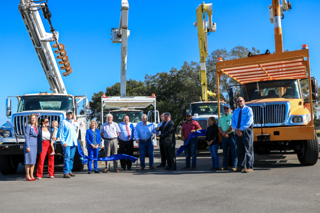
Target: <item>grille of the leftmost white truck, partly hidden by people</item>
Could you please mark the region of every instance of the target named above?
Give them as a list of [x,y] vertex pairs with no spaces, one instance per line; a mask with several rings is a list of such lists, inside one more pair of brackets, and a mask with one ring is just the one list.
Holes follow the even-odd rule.
[[[27,116],[16,116],[13,118],[13,129],[17,136],[24,135],[24,128],[27,126],[28,117],[29,116],[27,115]],[[47,117],[49,119],[49,125],[51,125],[52,121],[58,121],[58,123],[60,123],[59,115],[42,115],[38,118],[39,125],[40,125],[40,119],[42,117]]]

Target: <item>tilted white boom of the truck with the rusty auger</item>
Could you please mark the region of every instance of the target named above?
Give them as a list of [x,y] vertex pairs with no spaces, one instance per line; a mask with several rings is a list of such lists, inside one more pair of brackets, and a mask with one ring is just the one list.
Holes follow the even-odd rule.
[[44,74],[47,77],[50,90],[52,93],[67,94],[59,67],[49,43],[51,41],[58,41],[59,34],[56,32],[54,38],[52,33],[45,32],[38,12],[42,7],[44,7],[44,3],[35,4],[29,0],[20,0],[19,11],[43,67]]

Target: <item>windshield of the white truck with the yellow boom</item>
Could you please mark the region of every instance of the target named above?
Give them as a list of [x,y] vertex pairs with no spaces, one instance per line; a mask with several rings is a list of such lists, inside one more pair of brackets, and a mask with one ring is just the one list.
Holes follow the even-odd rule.
[[[220,115],[223,114],[223,105],[224,103],[220,103]],[[198,103],[191,104],[190,113],[192,116],[194,114],[198,115],[207,115],[207,114],[218,114],[218,103]]]

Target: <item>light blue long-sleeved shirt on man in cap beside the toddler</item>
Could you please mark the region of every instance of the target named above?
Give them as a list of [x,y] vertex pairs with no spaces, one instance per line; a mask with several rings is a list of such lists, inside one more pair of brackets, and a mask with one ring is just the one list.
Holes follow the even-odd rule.
[[61,141],[61,145],[65,143],[67,146],[77,146],[77,134],[76,134],[77,126],[76,123],[71,120],[69,121],[67,118],[63,119],[59,124],[59,138]]

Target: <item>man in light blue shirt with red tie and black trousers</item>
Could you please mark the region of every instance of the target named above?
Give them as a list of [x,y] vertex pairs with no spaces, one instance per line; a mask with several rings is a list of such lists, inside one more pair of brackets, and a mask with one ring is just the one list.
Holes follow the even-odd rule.
[[[123,122],[119,123],[119,154],[133,155],[133,124],[129,122],[129,116],[123,116]],[[132,161],[130,159],[120,160],[122,171],[125,167],[131,171]]]

